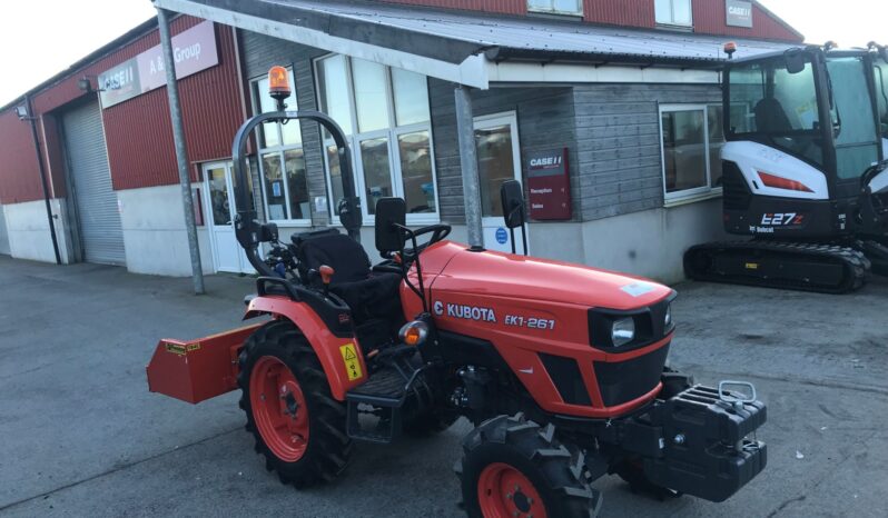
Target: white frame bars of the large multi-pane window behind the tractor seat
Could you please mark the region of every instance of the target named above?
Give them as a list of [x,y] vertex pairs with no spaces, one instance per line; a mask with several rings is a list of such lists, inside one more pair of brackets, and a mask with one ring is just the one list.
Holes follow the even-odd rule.
[[[352,157],[352,165],[353,165],[353,179],[355,183],[355,191],[361,200],[361,211],[364,219],[364,226],[373,226],[375,223],[375,216],[369,213],[368,208],[368,200],[366,196],[366,181],[364,178],[364,162],[363,157],[361,153],[361,142],[364,140],[369,140],[374,138],[385,137],[387,139],[388,146],[388,175],[389,180],[392,181],[392,196],[395,197],[404,197],[404,176],[401,169],[401,150],[397,146],[397,139],[399,136],[405,133],[415,133],[421,131],[428,132],[428,152],[431,155],[431,165],[432,165],[432,183],[435,187],[435,211],[434,212],[408,212],[407,213],[407,223],[412,226],[423,226],[423,225],[435,225],[441,222],[441,195],[438,189],[437,182],[437,167],[435,165],[435,139],[434,133],[432,130],[432,106],[431,99],[428,99],[428,94],[426,93],[426,99],[428,100],[428,120],[424,122],[414,122],[412,124],[405,126],[397,126],[397,113],[396,113],[396,102],[395,102],[395,92],[394,92],[394,84],[392,82],[392,67],[385,67],[385,90],[386,94],[388,96],[388,128],[377,129],[367,132],[361,132],[361,127],[358,126],[357,120],[357,99],[355,98],[355,89],[354,89],[354,77],[352,73],[352,57],[345,54],[338,54],[336,52],[328,52],[323,56],[318,56],[312,59],[312,70],[314,72],[314,83],[315,83],[315,99],[317,102],[317,110],[320,112],[325,112],[323,109],[324,103],[324,96],[325,92],[320,89],[320,74],[318,73],[318,67],[320,63],[328,58],[333,58],[336,56],[342,56],[345,58],[345,76],[346,76],[346,92],[348,96],[348,108],[349,108],[349,118],[352,123],[352,135],[345,136],[345,141],[348,145],[348,149]],[[414,72],[418,73],[418,72]],[[426,89],[428,88],[428,77],[426,78]],[[427,90],[426,90],[427,91]],[[326,185],[327,191],[327,208],[329,210],[329,221],[332,225],[342,226],[339,221],[339,217],[336,215],[336,199],[333,193],[333,177],[330,176],[329,171],[329,159],[327,155],[327,148],[330,146],[335,147],[335,142],[332,138],[327,137],[323,128],[318,128],[320,132],[320,142],[323,147],[323,160],[324,160],[324,182]]]

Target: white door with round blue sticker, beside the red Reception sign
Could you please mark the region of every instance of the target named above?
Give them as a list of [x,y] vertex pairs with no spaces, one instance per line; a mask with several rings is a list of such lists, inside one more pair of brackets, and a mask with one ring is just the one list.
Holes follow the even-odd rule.
[[[481,182],[481,225],[484,248],[512,251],[511,232],[503,223],[503,203],[500,186],[506,180],[521,181],[521,152],[519,148],[515,112],[475,118],[475,146],[477,173]],[[524,226],[526,231],[527,226]],[[515,229],[515,251],[522,253],[521,229]]]

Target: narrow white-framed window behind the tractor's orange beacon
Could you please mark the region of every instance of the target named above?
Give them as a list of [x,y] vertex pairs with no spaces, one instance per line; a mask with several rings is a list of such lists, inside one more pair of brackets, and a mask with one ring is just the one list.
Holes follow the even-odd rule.
[[[296,84],[293,70],[289,83]],[[251,83],[253,106],[258,113],[275,111],[275,100],[268,94],[268,79]],[[296,90],[285,101],[288,110],[298,110]],[[299,122],[266,122],[259,129],[259,175],[266,219],[269,221],[310,225],[308,183],[303,156]]]

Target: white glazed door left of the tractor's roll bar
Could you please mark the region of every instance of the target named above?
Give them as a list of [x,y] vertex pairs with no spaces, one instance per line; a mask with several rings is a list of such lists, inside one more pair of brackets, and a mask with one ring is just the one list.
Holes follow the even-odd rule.
[[214,162],[204,166],[204,183],[207,192],[205,206],[213,261],[216,271],[253,273],[255,270],[235,237],[234,220],[237,215],[231,163]]

